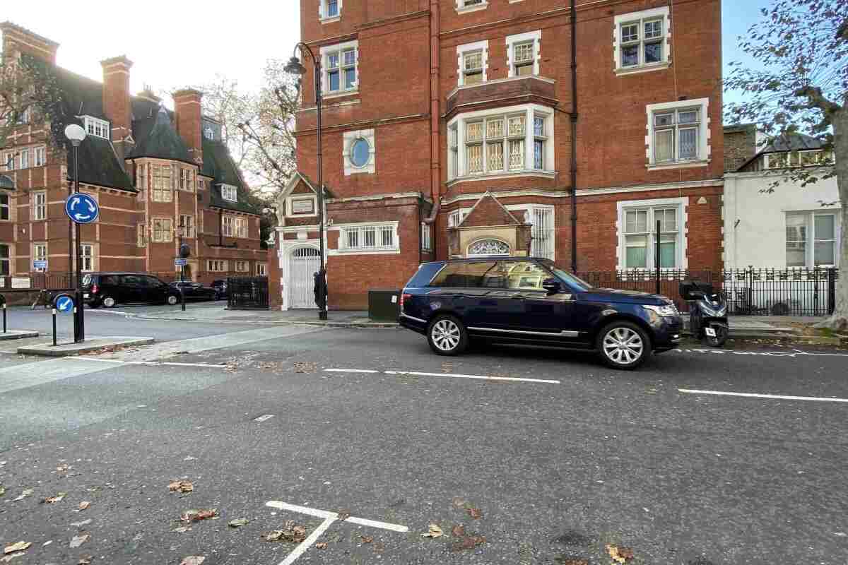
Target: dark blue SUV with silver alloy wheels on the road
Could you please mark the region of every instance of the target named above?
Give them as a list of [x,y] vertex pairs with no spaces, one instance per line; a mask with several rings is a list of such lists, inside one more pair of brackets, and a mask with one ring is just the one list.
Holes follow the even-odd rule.
[[683,330],[665,296],[593,288],[538,258],[423,263],[404,288],[399,323],[427,335],[438,355],[469,341],[555,346],[599,352],[622,369],[676,347]]

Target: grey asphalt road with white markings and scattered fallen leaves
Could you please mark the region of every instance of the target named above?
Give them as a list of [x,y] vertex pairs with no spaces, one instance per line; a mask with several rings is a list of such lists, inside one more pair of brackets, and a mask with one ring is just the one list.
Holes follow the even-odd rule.
[[[209,330],[226,335],[195,339]],[[110,360],[0,357],[0,546],[32,544],[13,563],[848,559],[848,352],[689,349],[620,373],[529,349],[437,357],[405,330],[174,331]],[[132,363],[155,358],[179,364]],[[220,519],[179,521],[203,508]],[[263,539],[287,520],[326,548]],[[421,537],[431,523],[444,535]]]

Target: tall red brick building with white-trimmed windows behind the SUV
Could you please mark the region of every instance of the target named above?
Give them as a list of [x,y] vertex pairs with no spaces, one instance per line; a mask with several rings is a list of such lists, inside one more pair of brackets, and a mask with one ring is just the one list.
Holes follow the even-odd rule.
[[[431,258],[652,270],[659,238],[663,269],[721,266],[721,3],[567,4],[301,0],[325,94],[330,307],[365,307]],[[306,66],[282,307],[310,306],[317,270]]]

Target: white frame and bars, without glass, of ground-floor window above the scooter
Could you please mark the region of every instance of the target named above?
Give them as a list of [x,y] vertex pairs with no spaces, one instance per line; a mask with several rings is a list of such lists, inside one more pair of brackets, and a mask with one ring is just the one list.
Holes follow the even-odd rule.
[[[687,227],[689,224],[689,212],[687,208],[689,207],[689,197],[679,197],[679,198],[655,198],[652,200],[626,200],[617,202],[618,208],[618,216],[616,220],[616,232],[618,237],[618,245],[616,248],[617,255],[617,264],[618,269],[622,271],[627,271],[628,273],[632,272],[653,272],[656,270],[654,265],[654,252],[656,246],[656,220],[653,220],[653,210],[656,209],[669,209],[675,208],[677,210],[677,234],[678,234],[678,246],[675,251],[674,258],[674,268],[663,268],[661,271],[678,271],[681,269],[689,268],[689,259],[686,255],[686,250],[688,247],[689,241],[689,228]],[[627,229],[627,213],[642,211],[642,210],[651,210],[648,214],[647,219],[647,227],[648,227],[648,250],[646,252],[647,258],[645,260],[644,269],[633,269],[628,268],[626,266],[627,263],[627,236],[631,235],[626,233]]]

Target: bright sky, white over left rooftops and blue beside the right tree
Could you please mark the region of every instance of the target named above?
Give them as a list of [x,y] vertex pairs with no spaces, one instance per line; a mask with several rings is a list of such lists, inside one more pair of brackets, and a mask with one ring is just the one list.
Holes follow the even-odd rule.
[[[759,19],[768,0],[723,0],[723,63],[742,58],[737,36]],[[153,91],[197,86],[225,75],[246,91],[259,89],[269,58],[289,58],[300,35],[299,0],[148,0],[132,4],[104,0],[4,2],[0,19],[59,42],[58,63],[101,80],[100,61],[126,55],[133,62],[130,89]],[[126,3],[124,4],[126,5]],[[82,7],[85,8],[82,8]],[[744,60],[744,58],[743,58]],[[733,93],[725,101],[736,101]],[[170,105],[170,99],[165,99]]]

